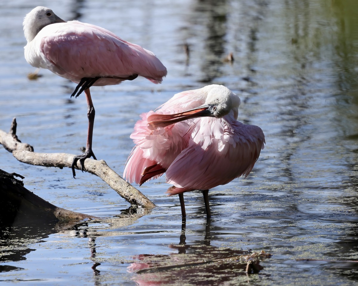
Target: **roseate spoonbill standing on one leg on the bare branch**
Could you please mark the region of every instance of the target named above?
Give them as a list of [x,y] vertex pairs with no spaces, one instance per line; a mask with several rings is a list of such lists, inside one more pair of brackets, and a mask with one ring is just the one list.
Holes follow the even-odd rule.
[[78,83],[71,97],[76,95],[77,98],[83,91],[86,94],[87,144],[84,154],[73,158],[75,177],[74,166],[78,160],[83,171],[86,158],[96,159],[92,151],[95,109],[89,88],[119,84],[138,75],[158,84],[165,77],[166,68],[151,51],[122,40],[101,27],[79,21],[66,22],[46,7],[34,8],[25,16],[23,26],[27,40],[26,61]]

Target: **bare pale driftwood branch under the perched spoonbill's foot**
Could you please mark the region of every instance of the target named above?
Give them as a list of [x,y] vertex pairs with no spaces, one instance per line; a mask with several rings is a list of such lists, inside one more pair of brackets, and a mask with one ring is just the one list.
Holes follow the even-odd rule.
[[[67,153],[36,153],[34,148],[21,141],[16,136],[16,119],[13,119],[10,132],[6,133],[0,129],[0,144],[6,150],[11,152],[18,161],[45,167],[68,167],[71,168],[72,160],[75,155]],[[84,163],[84,171],[94,174],[105,181],[113,190],[115,190],[122,198],[130,204],[142,206],[145,208],[153,208],[155,204],[151,202],[144,194],[127,183],[121,176],[114,172],[105,161],[86,159]],[[77,169],[81,169],[79,161]]]

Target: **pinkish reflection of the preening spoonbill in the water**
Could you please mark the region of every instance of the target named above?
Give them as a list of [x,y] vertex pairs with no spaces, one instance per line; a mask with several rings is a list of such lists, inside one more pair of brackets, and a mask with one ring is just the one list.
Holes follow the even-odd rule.
[[252,252],[211,246],[209,219],[205,238],[198,244],[185,242],[185,228],[183,218],[179,244],[169,245],[178,253],[133,257],[139,262],[131,263],[127,271],[136,273],[134,280],[138,285],[175,285],[180,281],[188,285],[222,285],[242,280],[242,275],[258,273],[263,269],[260,261],[271,256],[263,250]]

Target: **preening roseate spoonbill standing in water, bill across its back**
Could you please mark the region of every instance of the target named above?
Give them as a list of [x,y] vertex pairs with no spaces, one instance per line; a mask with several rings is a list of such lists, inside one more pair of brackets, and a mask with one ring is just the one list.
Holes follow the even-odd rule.
[[131,134],[124,177],[143,184],[166,173],[169,196],[202,190],[210,217],[208,190],[251,172],[264,147],[260,127],[237,121],[240,98],[223,85],[177,93],[156,110],[141,114]]

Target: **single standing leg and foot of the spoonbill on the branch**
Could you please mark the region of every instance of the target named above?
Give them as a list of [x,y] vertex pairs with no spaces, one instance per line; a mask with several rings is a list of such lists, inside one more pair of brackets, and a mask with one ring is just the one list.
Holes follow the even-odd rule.
[[84,170],[84,160],[85,159],[93,157],[93,159],[97,160],[95,154],[93,154],[93,151],[92,151],[92,135],[93,135],[93,124],[95,123],[95,108],[93,107],[91,93],[89,93],[89,88],[85,89],[84,93],[86,94],[86,100],[87,100],[87,106],[88,106],[87,144],[86,144],[86,151],[84,151],[84,153],[82,155],[78,155],[73,158],[72,166],[71,166],[73,178],[76,176],[74,167],[77,165],[78,160],[81,163],[82,172]]

